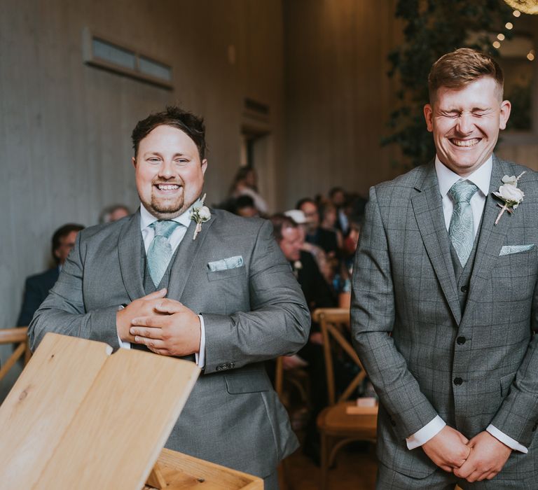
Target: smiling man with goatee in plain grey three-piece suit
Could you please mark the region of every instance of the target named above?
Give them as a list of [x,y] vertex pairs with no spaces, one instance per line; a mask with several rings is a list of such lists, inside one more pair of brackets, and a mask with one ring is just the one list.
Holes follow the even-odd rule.
[[301,288],[270,222],[202,207],[200,118],[171,107],[132,139],[142,205],[78,235],[29,327],[32,349],[53,331],[195,360],[203,374],[166,446],[275,488],[277,463],[298,444],[263,361],[308,339]]

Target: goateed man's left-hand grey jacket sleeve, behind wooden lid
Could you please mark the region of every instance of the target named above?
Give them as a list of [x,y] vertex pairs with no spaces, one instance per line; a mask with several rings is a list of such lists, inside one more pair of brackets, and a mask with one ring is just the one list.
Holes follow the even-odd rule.
[[[55,332],[83,339],[106,342],[118,349],[116,334],[117,307],[94,309],[87,312],[83,301],[83,273],[85,245],[81,233],[74,249],[62,267],[60,277],[46,300],[36,311],[28,328],[30,349],[34,351],[47,332]],[[108,325],[109,328],[102,328]]]

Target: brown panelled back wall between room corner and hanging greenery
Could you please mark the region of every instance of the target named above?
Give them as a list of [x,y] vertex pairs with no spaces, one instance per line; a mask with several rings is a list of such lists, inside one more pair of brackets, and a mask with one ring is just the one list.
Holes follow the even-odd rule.
[[286,33],[288,206],[332,186],[366,193],[392,178],[381,148],[394,100],[387,54],[399,34],[394,1],[291,0]]

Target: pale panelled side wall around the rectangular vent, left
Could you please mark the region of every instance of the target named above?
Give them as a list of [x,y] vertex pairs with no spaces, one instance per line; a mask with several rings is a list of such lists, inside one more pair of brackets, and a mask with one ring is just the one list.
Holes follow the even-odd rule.
[[[85,27],[171,64],[173,90],[83,64]],[[3,0],[0,33],[0,328],[25,276],[47,267],[55,228],[137,206],[130,132],[150,111],[179,102],[205,117],[209,203],[240,161],[244,97],[270,106],[264,178],[283,165],[280,1]]]

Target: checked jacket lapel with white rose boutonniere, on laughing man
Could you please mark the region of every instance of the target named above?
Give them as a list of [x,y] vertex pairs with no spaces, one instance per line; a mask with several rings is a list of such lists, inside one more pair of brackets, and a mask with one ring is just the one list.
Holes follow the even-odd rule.
[[464,312],[464,319],[471,314],[474,304],[481,297],[483,287],[488,282],[491,269],[499,258],[501,247],[505,242],[506,233],[511,226],[511,218],[508,213],[504,213],[497,225],[494,225],[500,208],[497,205],[499,200],[492,196],[492,192],[499,189],[504,175],[512,175],[513,169],[502,160],[493,155],[493,167],[491,171],[490,192],[486,197],[480,237],[476,248],[476,258],[474,262],[471,281],[469,283],[469,297]]

